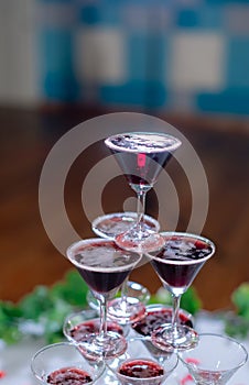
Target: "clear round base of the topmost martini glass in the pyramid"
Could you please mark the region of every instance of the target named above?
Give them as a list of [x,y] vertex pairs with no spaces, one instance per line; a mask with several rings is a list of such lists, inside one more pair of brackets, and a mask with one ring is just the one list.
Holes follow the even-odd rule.
[[121,249],[133,251],[136,253],[149,253],[161,249],[165,241],[160,233],[148,231],[144,227],[134,226],[131,230],[119,234],[115,242]]

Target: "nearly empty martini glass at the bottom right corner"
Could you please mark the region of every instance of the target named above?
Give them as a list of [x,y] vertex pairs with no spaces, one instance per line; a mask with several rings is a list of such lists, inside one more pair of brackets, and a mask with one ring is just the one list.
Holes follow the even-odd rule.
[[247,362],[243,345],[227,336],[203,333],[196,348],[178,354],[197,385],[225,385]]

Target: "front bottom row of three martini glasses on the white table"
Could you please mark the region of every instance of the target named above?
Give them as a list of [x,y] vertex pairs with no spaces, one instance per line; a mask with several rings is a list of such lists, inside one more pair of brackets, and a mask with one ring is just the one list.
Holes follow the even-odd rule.
[[[167,383],[166,378],[181,361],[196,384],[225,385],[248,356],[241,343],[221,334],[201,333],[194,349],[178,353],[160,351],[156,356],[147,349],[144,341],[145,338],[138,337],[128,339],[126,353],[106,362],[88,360],[82,354],[80,345],[55,343],[33,356],[31,369],[42,384],[83,385],[99,380],[101,384],[160,385]],[[113,374],[112,378],[108,372]]]

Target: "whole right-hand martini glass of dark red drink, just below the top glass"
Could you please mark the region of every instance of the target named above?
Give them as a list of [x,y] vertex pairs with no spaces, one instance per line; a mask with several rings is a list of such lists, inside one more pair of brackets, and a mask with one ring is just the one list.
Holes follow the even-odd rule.
[[204,237],[185,232],[162,232],[164,246],[152,252],[151,264],[163,286],[173,297],[172,322],[156,328],[151,336],[155,346],[165,351],[182,351],[195,346],[197,332],[187,324],[181,324],[178,310],[181,296],[205,262],[215,253],[215,245]]

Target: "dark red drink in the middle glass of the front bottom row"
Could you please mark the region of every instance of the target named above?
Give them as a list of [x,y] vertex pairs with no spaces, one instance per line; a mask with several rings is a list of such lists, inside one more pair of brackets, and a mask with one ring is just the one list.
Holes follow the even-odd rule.
[[119,367],[119,373],[133,378],[151,378],[164,374],[163,367],[153,361],[132,360]]

